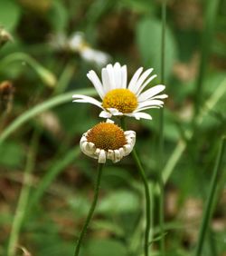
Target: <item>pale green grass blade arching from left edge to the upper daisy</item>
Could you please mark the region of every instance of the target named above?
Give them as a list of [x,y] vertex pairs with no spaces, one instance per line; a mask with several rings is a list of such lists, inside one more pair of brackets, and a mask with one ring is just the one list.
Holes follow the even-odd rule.
[[[14,133],[16,129],[22,126],[24,123],[28,122],[31,118],[42,113],[48,109],[51,109],[62,103],[72,102],[72,94],[86,94],[86,95],[95,95],[96,91],[94,89],[82,89],[77,91],[71,91],[67,94],[61,94],[47,100],[43,103],[35,105],[32,109],[26,111],[25,113],[18,116],[13,123],[10,123],[8,127],[0,135],[0,145],[5,141],[5,139]],[[72,106],[71,106],[72,107]]]

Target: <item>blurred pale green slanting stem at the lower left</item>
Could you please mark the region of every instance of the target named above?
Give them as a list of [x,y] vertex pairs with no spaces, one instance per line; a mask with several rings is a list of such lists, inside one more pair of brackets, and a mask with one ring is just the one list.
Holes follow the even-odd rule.
[[14,222],[12,226],[12,231],[10,233],[8,248],[7,248],[7,256],[14,256],[15,249],[19,238],[19,233],[24,221],[24,214],[27,207],[27,202],[30,193],[30,184],[31,184],[31,172],[33,172],[33,167],[35,163],[35,155],[37,152],[37,142],[39,133],[34,132],[32,148],[28,153],[26,167],[24,170],[24,183],[22,187],[22,191],[19,196],[19,201],[17,204],[17,208],[14,215]]

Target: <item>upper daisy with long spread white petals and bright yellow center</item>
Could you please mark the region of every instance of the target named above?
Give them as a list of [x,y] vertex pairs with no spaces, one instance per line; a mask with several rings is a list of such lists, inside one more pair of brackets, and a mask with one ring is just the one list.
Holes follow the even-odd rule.
[[73,102],[92,103],[99,106],[102,109],[99,116],[104,118],[110,118],[112,115],[127,115],[136,119],[152,119],[150,114],[143,111],[162,107],[164,102],[161,100],[167,98],[166,94],[159,94],[165,90],[165,85],[158,84],[145,90],[156,77],[155,74],[150,76],[152,71],[153,68],[150,68],[142,74],[143,68],[140,67],[127,85],[126,65],[121,66],[116,63],[102,68],[102,83],[98,75],[91,70],[87,76],[97,90],[101,102],[80,94],[72,96],[75,99]]

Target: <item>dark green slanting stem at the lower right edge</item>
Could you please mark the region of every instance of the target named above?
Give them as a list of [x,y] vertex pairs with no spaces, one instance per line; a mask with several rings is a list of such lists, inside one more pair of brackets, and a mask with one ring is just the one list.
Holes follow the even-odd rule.
[[225,151],[225,141],[226,141],[226,137],[222,138],[221,148],[218,153],[215,168],[212,173],[212,182],[211,182],[210,192],[209,192],[209,196],[207,199],[205,211],[203,212],[202,225],[201,225],[201,229],[200,229],[200,233],[199,233],[199,240],[198,240],[196,251],[194,253],[195,256],[202,255],[202,247],[203,247],[203,242],[205,239],[205,234],[206,234],[206,231],[209,226],[209,222],[212,217],[214,196],[215,196],[215,192],[216,192],[217,185],[218,185],[218,178],[219,178],[220,172],[221,172],[221,162],[223,159],[223,153]]

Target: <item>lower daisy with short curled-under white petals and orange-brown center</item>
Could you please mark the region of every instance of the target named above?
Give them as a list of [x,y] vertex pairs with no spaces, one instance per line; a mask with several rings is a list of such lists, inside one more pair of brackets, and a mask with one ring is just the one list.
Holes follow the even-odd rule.
[[111,120],[106,123],[98,123],[80,139],[80,149],[89,157],[98,159],[98,162],[120,161],[131,153],[136,142],[134,131],[124,132]]

